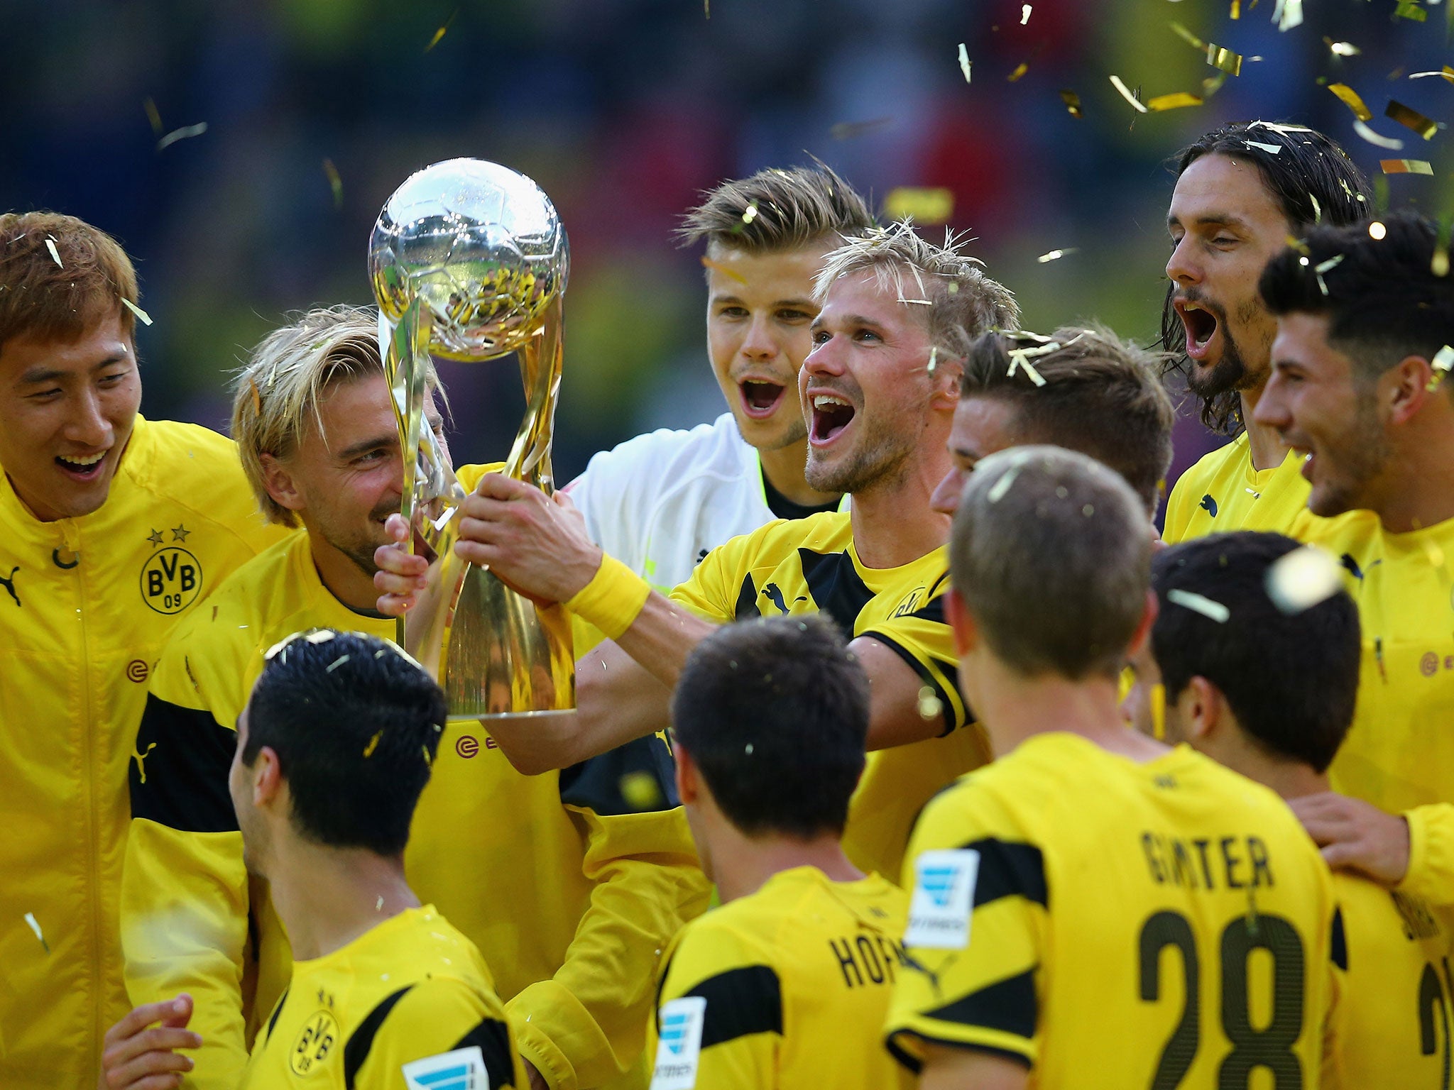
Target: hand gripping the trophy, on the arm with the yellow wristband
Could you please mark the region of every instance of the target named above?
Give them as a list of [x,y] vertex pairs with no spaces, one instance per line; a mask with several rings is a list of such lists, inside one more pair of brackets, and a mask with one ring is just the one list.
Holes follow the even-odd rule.
[[537,602],[567,602],[601,568],[601,548],[561,493],[489,474],[459,507],[455,552]]

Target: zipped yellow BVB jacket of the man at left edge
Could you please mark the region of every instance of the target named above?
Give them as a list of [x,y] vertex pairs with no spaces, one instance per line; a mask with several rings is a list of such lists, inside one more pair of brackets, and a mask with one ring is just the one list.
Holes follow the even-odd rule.
[[39,522],[0,474],[6,1090],[96,1086],[126,1010],[116,911],[147,677],[173,628],[284,533],[233,442],[193,424],[138,416],[106,503],[79,519]]

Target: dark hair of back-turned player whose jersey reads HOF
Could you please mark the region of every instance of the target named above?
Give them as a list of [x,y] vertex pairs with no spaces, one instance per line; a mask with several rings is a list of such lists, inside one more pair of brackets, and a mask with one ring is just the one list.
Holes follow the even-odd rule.
[[864,770],[868,677],[824,616],[743,621],[688,657],[672,730],[747,836],[840,836]]

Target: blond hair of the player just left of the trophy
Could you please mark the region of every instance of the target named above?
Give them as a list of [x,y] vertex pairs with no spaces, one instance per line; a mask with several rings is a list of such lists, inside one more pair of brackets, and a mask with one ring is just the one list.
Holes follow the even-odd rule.
[[[438,389],[433,365],[426,382]],[[297,526],[298,516],[268,493],[263,455],[297,452],[330,385],[382,374],[378,314],[364,307],[320,307],[273,330],[233,376],[233,439],[243,472],[269,522]]]

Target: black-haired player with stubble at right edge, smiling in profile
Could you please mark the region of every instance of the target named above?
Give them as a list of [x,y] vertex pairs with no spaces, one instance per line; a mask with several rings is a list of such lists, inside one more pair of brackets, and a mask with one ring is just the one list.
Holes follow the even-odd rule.
[[1256,423],[1296,452],[1313,514],[1377,516],[1313,538],[1349,573],[1362,667],[1332,764],[1345,795],[1297,799],[1297,812],[1333,866],[1451,904],[1454,282],[1432,270],[1437,235],[1412,215],[1317,228],[1268,265],[1278,334]]

